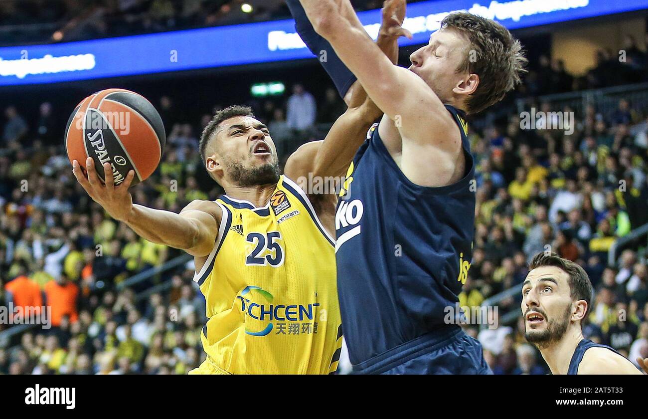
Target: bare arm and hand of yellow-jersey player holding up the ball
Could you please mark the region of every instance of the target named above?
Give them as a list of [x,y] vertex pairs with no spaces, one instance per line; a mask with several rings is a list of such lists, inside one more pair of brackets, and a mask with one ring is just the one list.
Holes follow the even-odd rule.
[[126,180],[115,186],[110,165],[104,165],[106,184],[102,184],[95,171],[94,162],[87,158],[87,178],[79,163],[73,162],[76,180],[95,202],[117,221],[126,223],[140,237],[153,243],[185,250],[192,256],[208,256],[211,252],[218,223],[222,217],[221,209],[213,202],[191,202],[179,214],[161,209],[147,208],[133,204],[128,192],[134,172],[130,171]]

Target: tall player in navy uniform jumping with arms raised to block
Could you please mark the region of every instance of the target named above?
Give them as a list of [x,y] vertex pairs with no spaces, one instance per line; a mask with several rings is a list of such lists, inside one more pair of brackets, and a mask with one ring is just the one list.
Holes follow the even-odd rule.
[[[332,47],[323,47],[327,60],[344,64],[323,62],[340,93],[353,73],[384,112],[347,171],[336,211],[338,295],[354,372],[489,374],[480,344],[445,318],[472,257],[466,117],[520,82],[520,43],[492,20],[450,14],[406,69],[381,56],[349,0],[300,3]],[[300,28],[317,53],[324,43],[297,21]]]

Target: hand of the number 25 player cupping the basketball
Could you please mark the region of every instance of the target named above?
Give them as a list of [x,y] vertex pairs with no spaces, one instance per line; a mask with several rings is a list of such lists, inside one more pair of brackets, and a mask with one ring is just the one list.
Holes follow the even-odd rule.
[[133,198],[130,192],[128,192],[128,187],[130,187],[133,178],[135,178],[135,171],[129,171],[124,182],[118,186],[115,186],[110,163],[104,163],[105,184],[102,184],[99,179],[95,170],[95,162],[92,158],[86,159],[86,171],[87,177],[82,172],[79,162],[76,160],[72,162],[72,172],[75,174],[76,180],[86,189],[87,195],[90,195],[97,204],[106,209],[106,212],[113,219],[126,221],[133,208]]

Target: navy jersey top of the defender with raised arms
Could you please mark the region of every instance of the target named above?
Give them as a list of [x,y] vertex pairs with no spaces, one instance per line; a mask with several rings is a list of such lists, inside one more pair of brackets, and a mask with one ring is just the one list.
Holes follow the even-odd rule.
[[354,365],[427,333],[458,328],[444,318],[446,307],[458,306],[470,268],[474,163],[465,115],[446,108],[466,158],[459,182],[410,182],[377,126],[349,167],[335,218],[336,259],[342,328]]

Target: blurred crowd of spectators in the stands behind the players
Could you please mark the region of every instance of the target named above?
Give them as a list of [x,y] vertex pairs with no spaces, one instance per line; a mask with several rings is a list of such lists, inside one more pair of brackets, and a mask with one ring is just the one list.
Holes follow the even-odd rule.
[[[615,67],[618,77],[608,77],[614,61],[608,57],[587,73],[586,84],[541,58],[513,96],[533,102],[540,91],[639,81],[629,75],[635,65],[645,68],[645,48],[628,49],[627,56]],[[316,96],[291,87],[283,99],[248,101],[270,126],[283,161],[300,143],[322,138],[344,110],[333,88]],[[191,200],[215,199],[222,189],[203,170],[198,137],[221,106],[188,118],[173,97],[151,99],[165,122],[167,147],[156,173],[133,187],[133,201],[178,212]],[[542,112],[571,112],[533,104]],[[0,374],[185,374],[197,366],[204,358],[205,307],[192,261],[126,285],[182,252],[140,239],[92,202],[71,173],[49,102],[3,111],[0,307],[50,306],[52,327],[7,336],[1,332],[19,326],[0,322]],[[511,108],[503,123],[470,132],[476,235],[460,304],[478,307],[521,284],[530,257],[549,248],[581,264],[594,285],[585,336],[631,360],[648,357],[645,238],[608,263],[612,243],[648,223],[648,97],[621,97],[606,112],[589,106],[561,129],[525,129],[521,118]],[[520,302],[521,293],[498,302],[500,317],[519,311]],[[496,374],[548,372],[524,339],[524,322],[466,329],[480,339]]]

